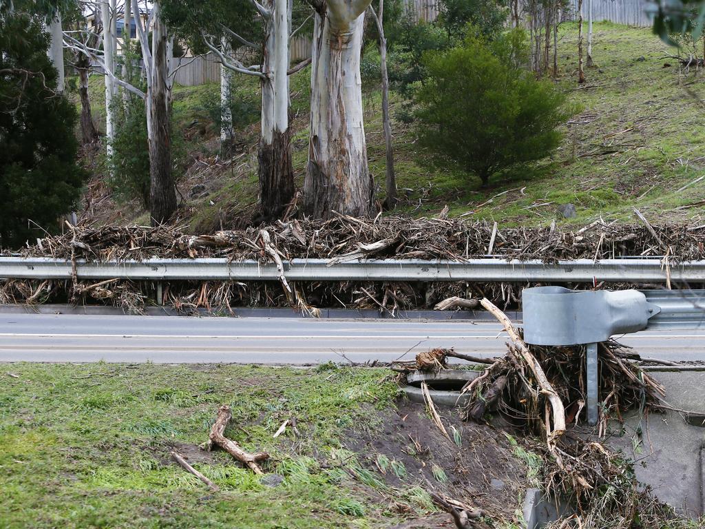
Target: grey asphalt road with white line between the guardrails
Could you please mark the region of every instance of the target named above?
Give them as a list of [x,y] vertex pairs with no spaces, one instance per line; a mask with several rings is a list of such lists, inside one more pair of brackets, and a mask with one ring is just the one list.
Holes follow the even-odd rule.
[[[494,322],[0,315],[0,362],[389,361],[433,347],[495,356],[505,341]],[[705,331],[644,331],[620,341],[652,358],[705,360]]]

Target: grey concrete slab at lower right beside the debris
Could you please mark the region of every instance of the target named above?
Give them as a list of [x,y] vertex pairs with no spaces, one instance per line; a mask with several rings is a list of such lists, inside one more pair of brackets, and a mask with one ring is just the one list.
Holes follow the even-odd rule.
[[[666,388],[674,408],[705,412],[704,372],[651,372]],[[618,428],[619,425],[614,425]],[[643,432],[643,444],[636,444]],[[680,413],[651,413],[648,418],[625,416],[623,434],[608,439],[635,463],[637,479],[651,486],[661,501],[686,516],[705,513],[701,452],[705,428],[687,423]]]

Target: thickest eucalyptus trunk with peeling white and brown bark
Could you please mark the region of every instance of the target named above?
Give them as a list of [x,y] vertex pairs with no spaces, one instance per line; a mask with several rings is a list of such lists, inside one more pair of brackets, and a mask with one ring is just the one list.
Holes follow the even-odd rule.
[[372,211],[372,178],[362,123],[360,49],[370,0],[316,2],[311,70],[309,161],[304,207],[314,217],[333,210]]

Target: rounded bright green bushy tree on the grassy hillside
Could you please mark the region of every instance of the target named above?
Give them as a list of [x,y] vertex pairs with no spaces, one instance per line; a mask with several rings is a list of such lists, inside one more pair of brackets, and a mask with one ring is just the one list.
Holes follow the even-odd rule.
[[437,159],[457,162],[486,186],[493,174],[551,154],[570,112],[561,92],[523,67],[521,30],[493,42],[468,33],[462,46],[424,55],[428,78],[416,95],[416,117]]

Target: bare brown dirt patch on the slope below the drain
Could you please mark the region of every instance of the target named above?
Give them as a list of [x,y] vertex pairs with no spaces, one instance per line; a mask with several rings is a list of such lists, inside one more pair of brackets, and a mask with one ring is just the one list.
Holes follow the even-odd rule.
[[[448,408],[438,411],[453,440],[434,426],[424,406],[400,399],[396,410],[381,412],[381,431],[351,434],[348,449],[357,452],[368,468],[381,472],[388,485],[417,483],[478,506],[491,516],[512,518],[517,498],[527,487],[526,468],[513,455],[503,429],[462,422],[458,412]],[[403,463],[405,472],[395,473],[393,468],[383,471],[380,456],[383,461]]]

